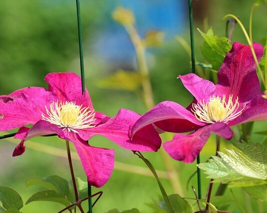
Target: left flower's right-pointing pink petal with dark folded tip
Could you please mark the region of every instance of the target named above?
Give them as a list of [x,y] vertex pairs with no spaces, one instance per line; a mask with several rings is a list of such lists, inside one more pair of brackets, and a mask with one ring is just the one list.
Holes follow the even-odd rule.
[[88,140],[94,135],[102,135],[119,146],[133,151],[157,151],[161,139],[152,125],[140,130],[132,140],[130,139],[129,130],[139,117],[140,115],[135,112],[120,109],[118,114],[106,123],[78,130],[78,134],[83,140]]

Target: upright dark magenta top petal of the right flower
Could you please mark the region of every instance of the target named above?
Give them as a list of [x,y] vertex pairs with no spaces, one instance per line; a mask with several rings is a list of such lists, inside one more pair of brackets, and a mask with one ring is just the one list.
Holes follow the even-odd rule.
[[[253,43],[253,48],[259,61],[263,55],[263,47]],[[260,92],[260,85],[256,74],[256,64],[250,47],[234,42],[232,49],[226,54],[218,71],[216,94],[238,96],[239,103],[247,103]]]

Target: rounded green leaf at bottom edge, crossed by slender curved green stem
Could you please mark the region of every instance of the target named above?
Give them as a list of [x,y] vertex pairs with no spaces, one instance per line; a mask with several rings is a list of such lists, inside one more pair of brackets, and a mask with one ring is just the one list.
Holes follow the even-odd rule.
[[[192,206],[186,200],[181,198],[179,195],[177,194],[170,195],[168,196],[168,199],[176,213],[193,213]],[[158,206],[161,209],[166,210],[167,213],[169,213],[169,210],[164,201],[160,202]]]

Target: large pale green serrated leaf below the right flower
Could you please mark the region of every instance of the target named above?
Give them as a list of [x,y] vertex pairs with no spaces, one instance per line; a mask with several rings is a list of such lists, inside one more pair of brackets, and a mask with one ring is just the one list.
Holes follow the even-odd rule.
[[230,187],[248,187],[267,183],[267,142],[233,143],[220,157],[212,156],[207,163],[199,164],[207,178],[213,182],[228,183]]

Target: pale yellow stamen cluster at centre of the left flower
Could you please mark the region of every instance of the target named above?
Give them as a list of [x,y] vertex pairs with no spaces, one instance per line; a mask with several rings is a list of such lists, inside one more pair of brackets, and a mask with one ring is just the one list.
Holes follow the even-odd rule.
[[64,103],[52,102],[49,109],[46,108],[46,115],[42,114],[42,120],[55,124],[63,130],[67,129],[68,132],[77,131],[75,129],[86,129],[94,127],[93,122],[94,110],[88,110],[89,107],[76,105],[75,102],[66,101]]

